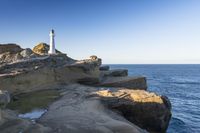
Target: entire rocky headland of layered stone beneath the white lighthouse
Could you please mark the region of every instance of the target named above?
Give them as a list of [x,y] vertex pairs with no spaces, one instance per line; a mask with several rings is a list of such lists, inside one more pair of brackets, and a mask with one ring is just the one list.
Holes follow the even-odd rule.
[[[1,132],[160,133],[167,130],[170,101],[148,92],[145,77],[128,77],[127,70],[101,67],[97,56],[74,60],[60,52],[48,55],[48,45],[39,44],[33,51],[18,45],[1,47],[4,49],[0,54],[9,56],[0,56],[0,104],[7,105],[10,96],[11,105],[16,102],[15,107],[22,104],[26,107],[41,96],[48,99],[50,94],[37,95],[35,100],[24,100],[24,103],[18,102],[22,94],[38,94],[43,90],[54,90],[60,97],[46,105],[48,111],[34,123],[19,118],[19,108],[10,108],[13,112],[8,109],[11,105],[1,106]],[[16,55],[20,58],[13,59]]]

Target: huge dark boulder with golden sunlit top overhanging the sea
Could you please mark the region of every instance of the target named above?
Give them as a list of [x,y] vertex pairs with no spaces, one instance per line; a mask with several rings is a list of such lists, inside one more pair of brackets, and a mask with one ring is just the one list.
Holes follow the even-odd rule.
[[167,97],[144,90],[102,90],[96,92],[105,106],[120,113],[130,122],[154,133],[164,133],[171,119]]

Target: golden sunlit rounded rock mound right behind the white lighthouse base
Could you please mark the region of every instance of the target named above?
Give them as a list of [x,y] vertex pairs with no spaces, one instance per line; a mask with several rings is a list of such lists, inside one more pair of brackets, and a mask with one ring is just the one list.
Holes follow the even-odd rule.
[[[49,45],[46,43],[39,43],[33,48],[33,52],[39,55],[46,55],[49,51]],[[56,50],[56,53],[61,53],[60,51]]]

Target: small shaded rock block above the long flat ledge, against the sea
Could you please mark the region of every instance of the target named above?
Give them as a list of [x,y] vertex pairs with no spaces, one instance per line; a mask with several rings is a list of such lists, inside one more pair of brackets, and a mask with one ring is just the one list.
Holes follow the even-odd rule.
[[101,75],[102,77],[123,77],[123,76],[128,76],[128,70],[115,69],[115,70],[109,70],[109,71],[102,71]]

